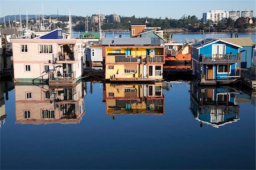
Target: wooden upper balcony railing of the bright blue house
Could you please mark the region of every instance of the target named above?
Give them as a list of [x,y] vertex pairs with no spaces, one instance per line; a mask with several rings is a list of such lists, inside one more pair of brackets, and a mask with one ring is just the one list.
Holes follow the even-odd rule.
[[241,54],[226,54],[226,55],[201,55],[202,62],[234,62],[241,61]]

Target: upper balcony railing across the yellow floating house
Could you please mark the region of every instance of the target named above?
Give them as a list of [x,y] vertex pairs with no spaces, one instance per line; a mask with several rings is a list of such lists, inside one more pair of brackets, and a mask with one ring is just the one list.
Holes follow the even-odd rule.
[[107,56],[106,63],[164,63],[164,56]]

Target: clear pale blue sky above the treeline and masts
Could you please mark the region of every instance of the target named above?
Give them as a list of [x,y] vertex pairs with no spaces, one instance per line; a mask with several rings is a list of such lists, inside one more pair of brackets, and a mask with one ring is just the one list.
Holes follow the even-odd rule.
[[41,14],[42,3],[44,5],[44,14],[59,14],[68,15],[68,9],[71,9],[71,15],[85,16],[86,9],[88,15],[97,14],[100,9],[102,14],[117,13],[121,16],[150,17],[150,18],[173,18],[180,19],[184,14],[196,15],[201,19],[203,13],[209,10],[225,10],[231,11],[237,9],[244,11],[245,9],[253,10],[255,16],[255,0],[200,0],[200,1],[0,1],[0,17],[5,15],[19,14],[19,9],[22,14]]

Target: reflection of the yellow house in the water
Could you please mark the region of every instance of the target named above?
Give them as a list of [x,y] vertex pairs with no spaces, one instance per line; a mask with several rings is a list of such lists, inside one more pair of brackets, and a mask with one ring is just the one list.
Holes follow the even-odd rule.
[[164,114],[163,83],[156,84],[105,84],[103,101],[106,114]]

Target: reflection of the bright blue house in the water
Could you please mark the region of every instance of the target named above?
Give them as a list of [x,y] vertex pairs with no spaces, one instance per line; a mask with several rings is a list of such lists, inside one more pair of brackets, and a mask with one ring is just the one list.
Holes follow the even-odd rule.
[[230,86],[202,87],[191,82],[191,111],[200,126],[203,123],[213,127],[237,122],[240,91]]

